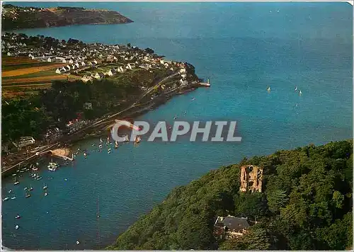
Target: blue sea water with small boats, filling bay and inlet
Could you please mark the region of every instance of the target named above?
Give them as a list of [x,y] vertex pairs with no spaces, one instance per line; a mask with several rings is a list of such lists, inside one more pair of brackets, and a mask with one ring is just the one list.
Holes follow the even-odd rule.
[[[123,144],[89,149],[72,166],[2,181],[2,241],[9,248],[103,248],[169,191],[244,156],[353,137],[352,11],[346,3],[17,2],[120,11],[134,23],[21,30],[28,35],[153,48],[190,62],[210,88],[173,98],[139,119],[237,120],[241,143]],[[266,88],[271,91],[267,93]],[[299,96],[294,90],[302,91]],[[192,101],[192,98],[195,98]],[[182,115],[183,111],[186,115]],[[143,139],[144,140],[144,139]],[[53,179],[48,179],[50,176]],[[64,179],[67,178],[67,181]],[[47,183],[48,195],[42,195]],[[34,187],[25,198],[23,187]],[[100,217],[97,218],[97,212]],[[15,219],[21,214],[21,219]],[[15,229],[16,224],[20,226]],[[80,241],[76,245],[76,240]]]

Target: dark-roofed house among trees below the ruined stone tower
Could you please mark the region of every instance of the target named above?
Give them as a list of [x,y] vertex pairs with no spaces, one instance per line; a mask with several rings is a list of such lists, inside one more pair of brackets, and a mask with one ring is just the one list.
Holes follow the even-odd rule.
[[251,222],[247,218],[218,216],[214,224],[214,235],[220,239],[229,239],[242,236],[251,227]]

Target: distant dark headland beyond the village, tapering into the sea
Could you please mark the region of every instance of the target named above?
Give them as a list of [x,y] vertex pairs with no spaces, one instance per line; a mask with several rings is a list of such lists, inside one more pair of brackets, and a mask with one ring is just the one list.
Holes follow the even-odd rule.
[[117,11],[76,7],[18,7],[4,4],[1,22],[3,30],[16,30],[95,23],[131,23],[132,21]]

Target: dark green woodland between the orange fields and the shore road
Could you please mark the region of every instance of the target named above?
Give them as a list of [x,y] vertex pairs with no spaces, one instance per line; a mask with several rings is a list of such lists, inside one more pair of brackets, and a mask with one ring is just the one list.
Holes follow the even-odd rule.
[[[41,137],[48,127],[64,129],[69,120],[82,113],[83,118],[93,119],[124,108],[142,93],[141,86],[149,88],[169,74],[166,69],[149,72],[139,69],[128,72],[120,79],[83,81],[53,81],[52,87],[28,97],[11,100],[2,98],[3,143],[19,137]],[[91,103],[92,110],[85,110],[84,103]]]

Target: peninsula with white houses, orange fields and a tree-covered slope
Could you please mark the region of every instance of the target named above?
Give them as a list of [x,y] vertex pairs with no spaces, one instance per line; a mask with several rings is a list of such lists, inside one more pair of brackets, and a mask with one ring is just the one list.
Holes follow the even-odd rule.
[[192,64],[166,60],[149,47],[16,33],[1,39],[1,175],[38,151],[106,135],[117,118],[205,86]]

